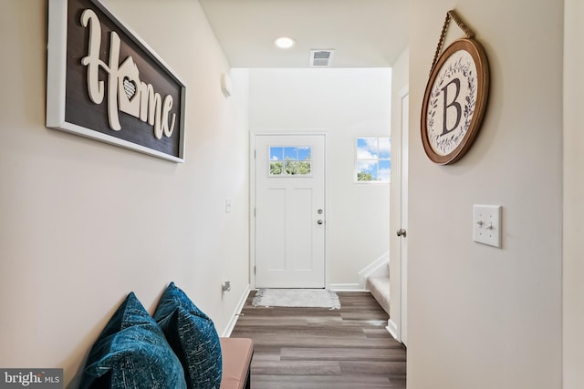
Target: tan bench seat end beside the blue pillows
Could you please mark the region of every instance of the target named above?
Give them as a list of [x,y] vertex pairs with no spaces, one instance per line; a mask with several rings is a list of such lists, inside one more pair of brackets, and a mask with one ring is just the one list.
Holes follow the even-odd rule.
[[223,359],[221,389],[250,389],[254,342],[249,338],[219,338]]

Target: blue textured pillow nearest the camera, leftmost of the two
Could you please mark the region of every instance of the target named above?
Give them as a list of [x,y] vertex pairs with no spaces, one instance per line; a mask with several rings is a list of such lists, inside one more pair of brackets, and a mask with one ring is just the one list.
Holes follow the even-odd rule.
[[79,388],[186,388],[161,328],[130,292],[89,352]]

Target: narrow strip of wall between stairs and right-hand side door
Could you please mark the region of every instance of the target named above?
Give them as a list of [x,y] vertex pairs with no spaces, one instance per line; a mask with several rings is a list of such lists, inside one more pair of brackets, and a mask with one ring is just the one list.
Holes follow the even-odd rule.
[[[409,58],[408,48],[403,50],[401,55],[391,67],[391,141],[393,144],[393,163],[391,170],[391,180],[395,185],[390,190],[390,317],[391,325],[399,326],[401,322],[401,240],[396,231],[402,228],[401,224],[401,97],[402,93],[408,90],[409,82]],[[407,157],[406,157],[407,158]],[[406,178],[407,186],[407,178]],[[406,235],[407,238],[407,235]]]

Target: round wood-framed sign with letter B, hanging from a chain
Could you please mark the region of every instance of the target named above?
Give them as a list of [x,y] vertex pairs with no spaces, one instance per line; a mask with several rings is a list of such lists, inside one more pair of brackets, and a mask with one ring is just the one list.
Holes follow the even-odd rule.
[[[449,15],[462,24],[454,11]],[[474,36],[465,26],[464,30]],[[443,36],[439,47],[442,41]],[[422,143],[429,159],[447,165],[461,159],[478,134],[485,116],[489,68],[483,46],[472,37],[454,41],[434,61],[422,103]]]

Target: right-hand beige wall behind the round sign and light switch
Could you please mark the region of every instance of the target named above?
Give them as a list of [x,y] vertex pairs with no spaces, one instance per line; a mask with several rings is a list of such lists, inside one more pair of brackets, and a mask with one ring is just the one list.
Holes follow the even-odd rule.
[[[562,2],[410,7],[408,387],[559,388]],[[419,123],[454,7],[485,46],[491,90],[473,148],[441,167],[426,158]],[[453,23],[448,42],[461,36]],[[501,250],[472,241],[473,204],[503,206]]]

